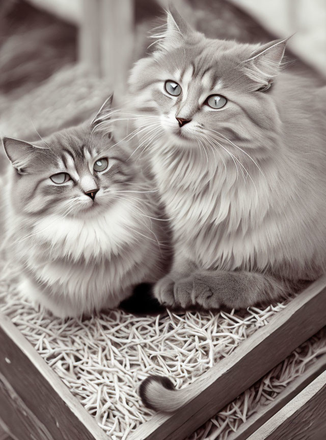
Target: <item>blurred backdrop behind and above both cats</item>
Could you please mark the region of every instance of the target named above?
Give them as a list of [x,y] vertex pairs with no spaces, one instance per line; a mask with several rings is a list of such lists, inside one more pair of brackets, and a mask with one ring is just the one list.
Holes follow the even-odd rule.
[[[144,56],[165,0],[1,0],[0,135],[33,141],[90,117]],[[175,0],[208,37],[289,42],[290,69],[326,76],[326,0]],[[0,172],[6,159],[0,155]]]

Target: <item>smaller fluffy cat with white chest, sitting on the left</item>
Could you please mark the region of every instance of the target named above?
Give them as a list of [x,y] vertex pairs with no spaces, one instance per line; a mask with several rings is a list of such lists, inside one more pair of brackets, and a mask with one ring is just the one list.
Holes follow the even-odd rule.
[[12,164],[6,247],[21,271],[18,288],[61,318],[115,308],[165,270],[154,191],[115,142],[111,102],[91,123],[43,142],[3,139]]

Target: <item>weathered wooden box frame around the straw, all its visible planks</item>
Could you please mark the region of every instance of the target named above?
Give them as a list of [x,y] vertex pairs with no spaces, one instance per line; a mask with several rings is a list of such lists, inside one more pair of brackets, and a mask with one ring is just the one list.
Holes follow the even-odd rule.
[[[181,440],[191,434],[325,326],[325,305],[323,276],[189,385],[195,397],[184,407],[153,416],[127,438]],[[0,315],[0,347],[0,418],[14,439],[110,438],[4,315]],[[325,368],[322,356],[230,440],[326,438]]]

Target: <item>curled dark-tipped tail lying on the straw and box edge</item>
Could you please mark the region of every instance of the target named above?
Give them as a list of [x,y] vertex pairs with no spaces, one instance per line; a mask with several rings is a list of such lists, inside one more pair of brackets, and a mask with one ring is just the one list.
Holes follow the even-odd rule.
[[192,399],[192,387],[176,390],[164,376],[149,376],[140,385],[139,394],[145,406],[155,411],[173,412]]

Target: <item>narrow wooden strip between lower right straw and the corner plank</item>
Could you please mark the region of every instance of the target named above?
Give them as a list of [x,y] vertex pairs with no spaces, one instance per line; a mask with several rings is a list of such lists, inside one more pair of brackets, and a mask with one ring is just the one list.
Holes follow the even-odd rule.
[[[309,385],[320,373],[326,369],[326,354],[319,357],[317,361],[310,365],[307,370],[296,377],[288,386],[268,405],[259,408],[246,422],[242,423],[236,432],[228,435],[228,440],[246,440],[267,420],[273,417],[283,406],[298,395]],[[325,437],[326,438],[326,437]]]

